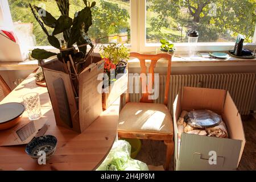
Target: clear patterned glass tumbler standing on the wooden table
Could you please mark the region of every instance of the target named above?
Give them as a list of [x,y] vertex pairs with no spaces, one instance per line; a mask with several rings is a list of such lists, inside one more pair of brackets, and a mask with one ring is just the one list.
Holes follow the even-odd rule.
[[40,119],[42,114],[41,114],[40,98],[38,93],[33,92],[33,93],[28,93],[24,95],[23,103],[26,108],[28,118],[30,120]]

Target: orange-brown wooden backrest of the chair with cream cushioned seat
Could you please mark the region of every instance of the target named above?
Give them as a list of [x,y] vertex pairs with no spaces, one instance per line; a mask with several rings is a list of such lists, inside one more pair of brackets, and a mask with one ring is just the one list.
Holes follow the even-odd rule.
[[[142,54],[138,52],[131,52],[130,57],[136,57],[139,59],[139,62],[141,63],[141,82],[142,82],[142,90],[143,88],[146,88],[146,93],[142,93],[142,98],[140,102],[147,102],[152,103],[153,100],[149,100],[148,96],[150,96],[151,89],[154,87],[154,69],[157,61],[159,59],[167,59],[168,60],[168,67],[167,67],[167,77],[166,77],[166,85],[164,90],[164,104],[168,104],[168,93],[169,93],[169,84],[170,84],[170,77],[171,77],[171,60],[172,55],[167,53],[159,53],[156,55],[152,54]],[[146,60],[151,60],[150,67],[148,68],[148,73],[152,74],[151,81],[148,81],[148,85],[146,85],[146,75],[147,75],[147,67],[146,67]],[[144,76],[143,76],[144,75]],[[145,80],[143,80],[145,79]]]

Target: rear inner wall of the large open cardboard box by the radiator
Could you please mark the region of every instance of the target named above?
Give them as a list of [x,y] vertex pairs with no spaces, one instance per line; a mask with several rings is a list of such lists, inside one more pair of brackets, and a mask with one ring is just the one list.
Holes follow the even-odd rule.
[[221,114],[224,107],[226,91],[208,88],[183,88],[182,110],[209,109]]

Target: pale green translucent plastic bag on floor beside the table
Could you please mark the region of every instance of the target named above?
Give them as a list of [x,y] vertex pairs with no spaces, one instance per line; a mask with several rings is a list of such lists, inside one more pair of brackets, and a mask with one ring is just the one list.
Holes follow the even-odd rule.
[[125,140],[117,140],[109,155],[97,171],[148,171],[147,164],[130,158],[131,145]]

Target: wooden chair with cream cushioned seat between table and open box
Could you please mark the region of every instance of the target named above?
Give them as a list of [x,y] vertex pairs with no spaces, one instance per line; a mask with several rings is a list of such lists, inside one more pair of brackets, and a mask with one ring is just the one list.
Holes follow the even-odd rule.
[[[128,102],[129,98],[126,96],[126,104],[119,114],[118,138],[163,140],[164,144],[167,146],[165,169],[168,170],[171,156],[174,152],[174,129],[170,110],[167,108],[172,56],[167,53],[148,55],[136,52],[131,52],[130,56],[139,59],[141,63],[141,73],[145,74],[147,72],[145,60],[151,60],[149,73],[152,73],[152,81],[149,81],[147,86],[146,81],[142,81],[142,87],[146,86],[147,92],[142,93],[142,98],[139,103]],[[154,86],[154,68],[156,62],[161,58],[168,60],[164,104],[155,104],[153,100],[148,99],[148,96],[152,93],[150,89]],[[141,80],[144,78],[145,77],[141,76]],[[150,84],[152,84],[152,86]]]

